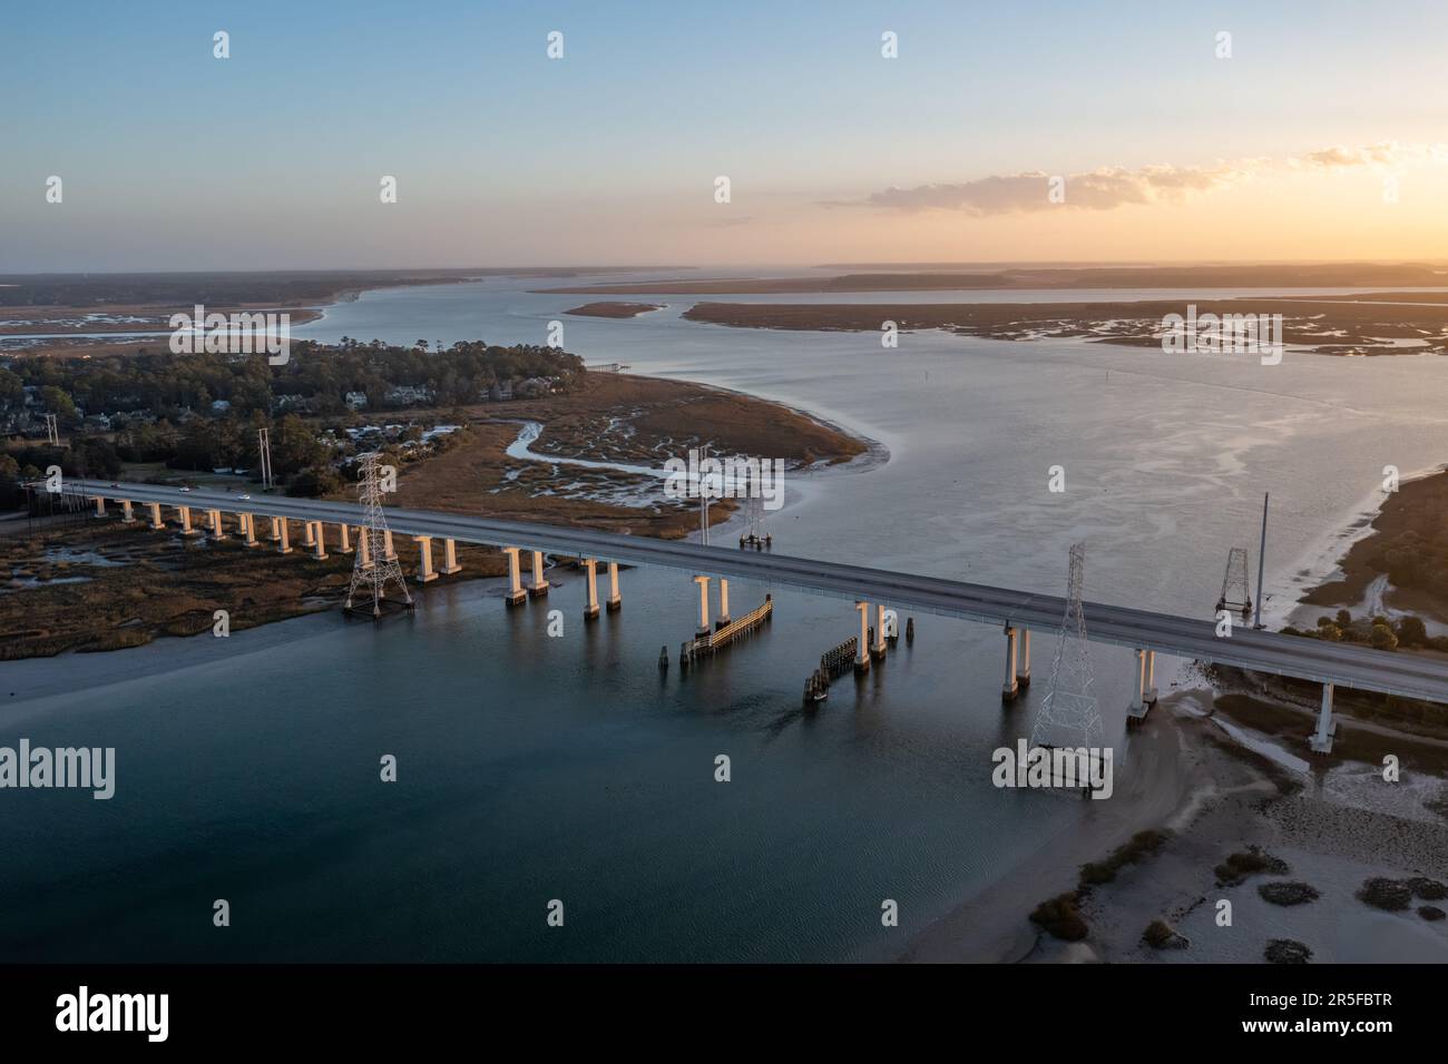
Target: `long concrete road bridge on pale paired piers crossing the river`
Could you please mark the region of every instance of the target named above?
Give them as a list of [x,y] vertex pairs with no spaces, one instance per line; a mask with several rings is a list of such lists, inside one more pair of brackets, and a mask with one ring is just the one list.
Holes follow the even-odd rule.
[[[255,518],[264,517],[281,523],[281,549],[287,547],[287,523],[300,521],[317,533],[320,553],[321,527],[339,527],[343,549],[346,528],[358,527],[362,508],[350,502],[321,499],[285,498],[262,495],[242,498],[235,492],[194,489],[181,492],[177,488],[148,484],[107,484],[100,481],[72,481],[64,484],[64,491],[96,501],[97,512],[104,512],[106,499],[125,505],[127,515],[133,504],[142,504],[152,511],[152,524],[161,524],[161,507],[181,514],[182,530],[191,528],[191,511],[211,517],[213,534],[220,534],[220,515],[236,514],[243,525],[255,531]],[[394,533],[411,536],[420,544],[421,572],[418,579],[433,578],[432,540],[447,544],[449,569],[455,570],[452,543],[475,543],[502,547],[511,559],[510,601],[526,595],[520,583],[518,554],[531,550],[534,557],[534,592],[546,592],[542,579],[542,554],[569,554],[589,562],[589,583],[594,565],[610,562],[614,594],[610,608],[617,608],[617,565],[631,563],[678,569],[695,575],[701,583],[701,631],[708,628],[708,582],[710,575],[720,578],[724,592],[724,614],[727,615],[728,578],[759,580],[773,588],[794,588],[815,595],[828,595],[854,601],[862,608],[867,602],[908,607],[941,617],[957,617],[966,621],[1003,625],[1006,631],[1006,680],[1003,693],[1014,696],[1018,682],[1016,647],[1018,636],[1024,634],[1025,672],[1030,676],[1030,630],[1054,630],[1066,611],[1066,599],[1057,595],[1038,595],[993,588],[980,583],[966,583],[922,573],[902,573],[866,566],[843,565],[786,554],[759,553],[752,550],[730,550],[702,546],[682,540],[656,540],[643,536],[594,531],[589,528],[568,528],[559,525],[533,524],[529,521],[498,521],[487,517],[452,514],[432,510],[387,508],[387,520]],[[275,527],[275,525],[274,525]],[[445,570],[446,572],[446,570]],[[542,586],[539,586],[542,585]],[[597,611],[597,595],[589,586],[589,602]],[[1137,651],[1137,696],[1132,709],[1140,711],[1144,702],[1154,701],[1150,685],[1156,653],[1197,659],[1202,662],[1237,666],[1254,672],[1292,676],[1322,685],[1322,711],[1313,735],[1313,750],[1331,748],[1332,691],[1335,686],[1399,695],[1448,704],[1448,660],[1416,654],[1399,654],[1371,650],[1344,643],[1328,643],[1302,636],[1234,628],[1231,636],[1218,637],[1216,622],[1195,617],[1134,609],[1129,607],[1086,602],[1085,615],[1092,641],[1129,647]],[[723,617],[721,620],[727,620]],[[862,643],[860,653],[866,654]]]

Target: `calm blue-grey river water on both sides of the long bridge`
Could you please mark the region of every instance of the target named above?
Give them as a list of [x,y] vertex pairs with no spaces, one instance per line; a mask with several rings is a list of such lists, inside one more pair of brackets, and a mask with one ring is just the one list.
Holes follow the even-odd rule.
[[[539,343],[586,301],[529,287],[368,292],[298,334]],[[889,449],[867,472],[796,478],[772,517],[785,553],[1058,592],[1085,539],[1092,598],[1206,615],[1228,547],[1255,546],[1263,491],[1280,601],[1384,465],[1448,460],[1442,359],[1267,368],[937,334],[883,350],[695,326],[679,320],[692,300],[659,301],[628,321],[563,317],[566,346]],[[696,617],[685,575],[627,570],[624,611],[586,628],[582,580],[556,580],[523,611],[492,582],[434,585],[376,630],[323,615],[0,666],[0,744],[114,746],[119,777],[110,802],[0,793],[0,958],[888,957],[1096,805],[989,786],[989,751],[1044,696],[1045,633],[1006,712],[1001,634],[922,615],[912,649],[805,712],[814,660],[856,630],[849,602],[776,594],[762,636],[660,677],[659,647]],[[733,582],[734,611],[765,591]],[[1125,744],[1129,659],[1098,647],[1093,663],[1108,741]],[[394,785],[378,782],[388,753]],[[717,754],[731,783],[714,782]],[[211,928],[217,898],[230,929]],[[883,898],[899,929],[880,928]],[[544,926],[550,899],[563,929]]]

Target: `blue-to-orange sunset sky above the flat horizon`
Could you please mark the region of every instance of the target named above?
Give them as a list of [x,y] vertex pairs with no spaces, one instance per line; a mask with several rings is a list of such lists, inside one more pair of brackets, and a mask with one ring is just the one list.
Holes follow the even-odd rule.
[[0,271],[1444,259],[1444,39],[1441,0],[17,4]]

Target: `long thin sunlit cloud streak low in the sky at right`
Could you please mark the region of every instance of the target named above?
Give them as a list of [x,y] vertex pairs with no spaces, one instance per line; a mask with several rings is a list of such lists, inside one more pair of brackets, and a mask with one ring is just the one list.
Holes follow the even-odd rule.
[[1050,174],[1027,171],[954,184],[915,185],[914,188],[892,185],[883,191],[872,193],[864,200],[828,206],[883,207],[899,211],[954,210],[975,217],[1060,210],[1063,207],[1115,210],[1132,204],[1182,203],[1190,195],[1213,193],[1264,174],[1281,171],[1284,165],[1287,168],[1337,168],[1368,164],[1393,165],[1423,159],[1434,162],[1448,159],[1448,146],[1384,142],[1363,148],[1326,148],[1300,159],[1290,158],[1286,164],[1271,159],[1238,159],[1213,166],[1171,166],[1167,164],[1138,169],[1102,166],[1083,174],[1064,175],[1066,198],[1060,203],[1051,200]]

